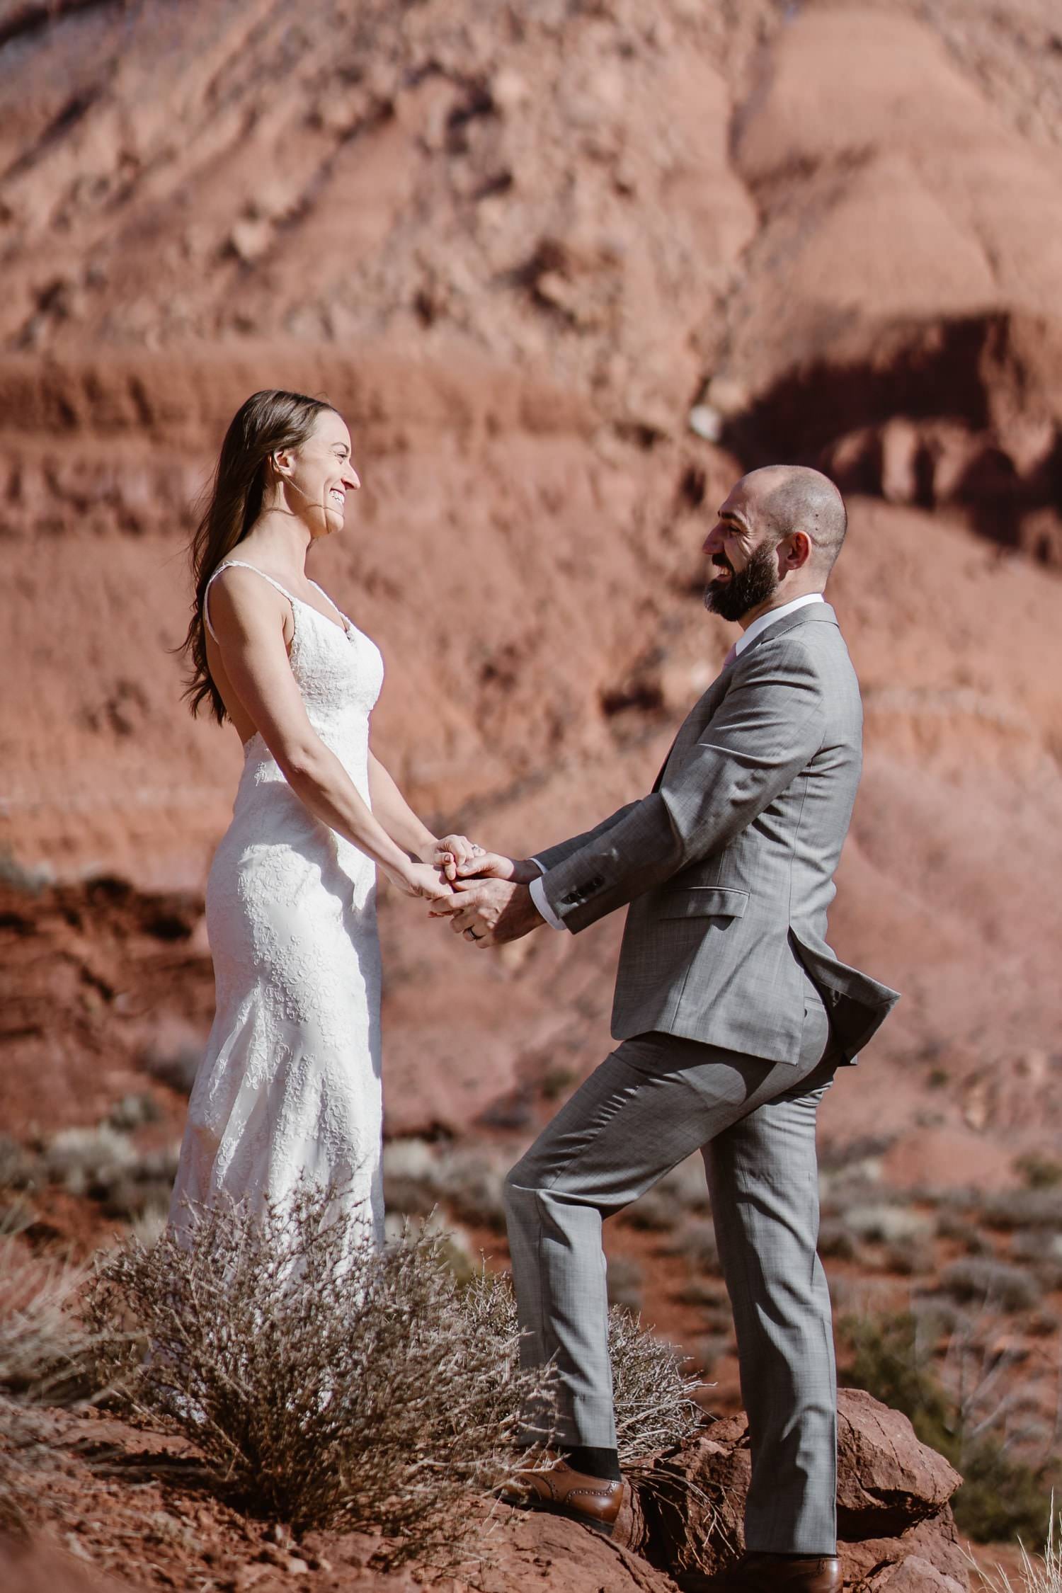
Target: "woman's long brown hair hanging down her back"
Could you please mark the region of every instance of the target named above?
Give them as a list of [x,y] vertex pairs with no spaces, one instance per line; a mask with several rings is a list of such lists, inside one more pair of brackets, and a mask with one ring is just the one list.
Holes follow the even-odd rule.
[[199,704],[207,699],[218,725],[225,723],[226,714],[207,669],[204,624],[207,581],[258,519],[271,456],[279,448],[298,448],[304,443],[322,409],[331,408],[325,398],[307,398],[306,393],[266,387],[240,405],[225,433],[210,499],[189,543],[196,596],[188,636],[180,648],[189,666],[183,696],[193,714],[197,714]]

